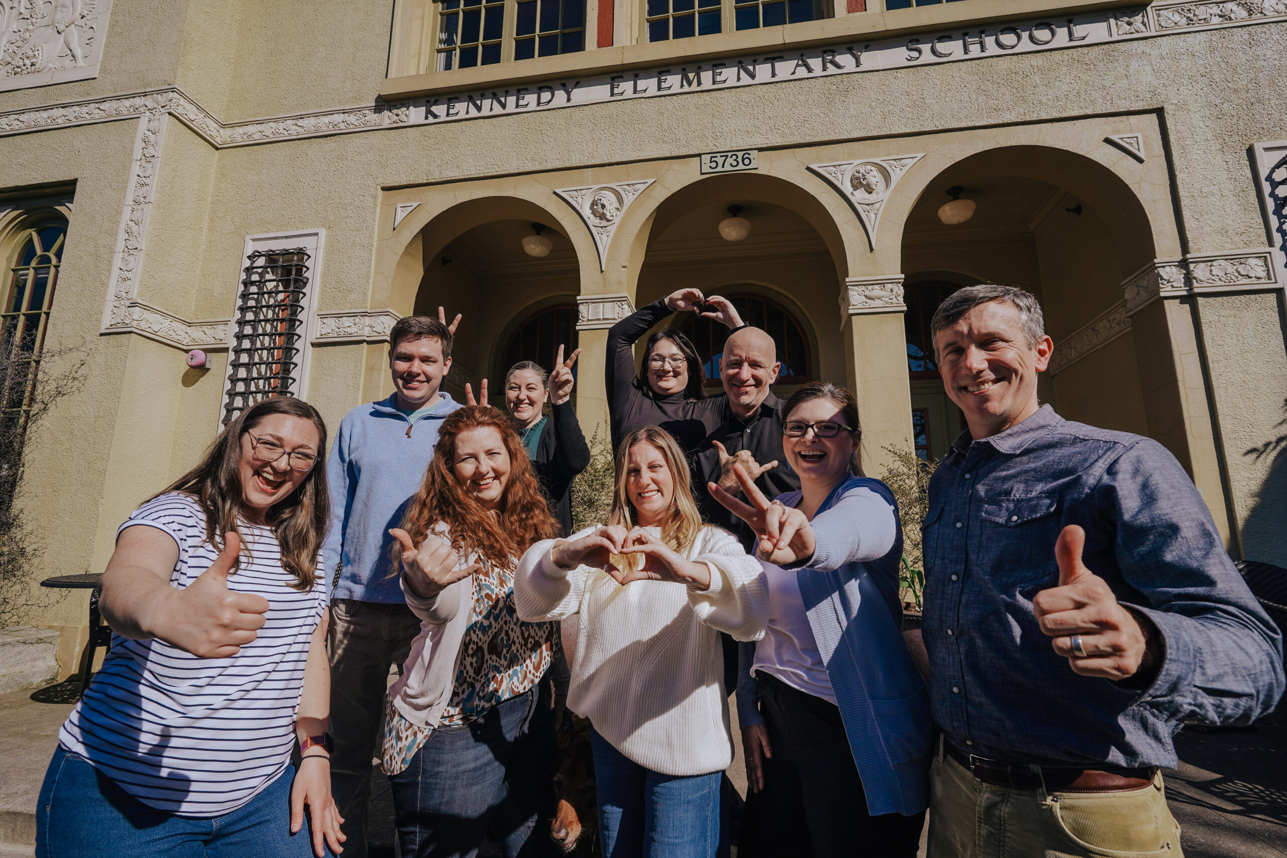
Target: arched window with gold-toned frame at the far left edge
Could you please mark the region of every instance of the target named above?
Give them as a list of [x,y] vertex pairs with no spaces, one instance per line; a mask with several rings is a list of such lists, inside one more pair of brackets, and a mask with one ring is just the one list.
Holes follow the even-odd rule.
[[21,432],[31,412],[40,352],[49,327],[49,307],[58,284],[67,221],[48,220],[19,234],[4,298],[0,354],[0,422],[3,432]]

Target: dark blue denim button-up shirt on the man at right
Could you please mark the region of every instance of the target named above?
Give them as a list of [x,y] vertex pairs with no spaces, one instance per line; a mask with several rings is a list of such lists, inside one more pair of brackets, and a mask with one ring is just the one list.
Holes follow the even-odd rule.
[[[1054,543],[1161,632],[1148,688],[1073,673],[1032,598],[1058,587]],[[1248,723],[1283,691],[1282,639],[1201,495],[1165,448],[1064,421],[1046,405],[972,441],[929,484],[925,612],[934,720],[958,747],[1010,763],[1176,764],[1181,719]]]

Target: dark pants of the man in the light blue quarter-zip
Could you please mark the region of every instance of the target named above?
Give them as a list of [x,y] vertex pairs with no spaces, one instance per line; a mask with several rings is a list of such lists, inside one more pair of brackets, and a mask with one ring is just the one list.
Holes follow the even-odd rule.
[[405,605],[331,605],[331,792],[344,817],[344,858],[367,855],[371,760],[378,753],[389,666],[402,673],[420,620]]

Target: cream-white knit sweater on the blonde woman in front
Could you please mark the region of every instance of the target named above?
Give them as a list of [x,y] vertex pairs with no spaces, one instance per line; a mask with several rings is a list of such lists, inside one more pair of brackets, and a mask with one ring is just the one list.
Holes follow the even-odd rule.
[[709,589],[669,581],[622,587],[601,569],[560,569],[553,544],[539,542],[523,556],[514,601],[529,621],[580,615],[568,706],[654,772],[728,768],[732,737],[716,630],[737,641],[764,635],[768,585],[759,561],[728,531],[707,526],[685,557],[710,569]]

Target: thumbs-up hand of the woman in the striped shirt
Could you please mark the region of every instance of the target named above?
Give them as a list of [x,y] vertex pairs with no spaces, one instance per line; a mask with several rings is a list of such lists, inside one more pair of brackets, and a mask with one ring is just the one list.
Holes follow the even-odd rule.
[[178,590],[179,610],[165,641],[198,659],[227,659],[255,639],[264,628],[268,599],[228,589],[228,575],[237,566],[241,539],[224,534],[224,549],[197,580]]

